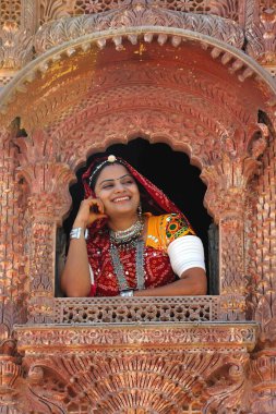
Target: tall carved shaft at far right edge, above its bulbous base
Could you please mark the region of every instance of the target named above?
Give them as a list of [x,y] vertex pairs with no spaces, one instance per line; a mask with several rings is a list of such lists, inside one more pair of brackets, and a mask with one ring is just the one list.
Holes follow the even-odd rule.
[[269,136],[268,148],[262,158],[262,170],[256,186],[255,215],[252,219],[253,246],[251,278],[255,319],[262,326],[262,340],[274,343],[276,306],[276,145],[274,132]]

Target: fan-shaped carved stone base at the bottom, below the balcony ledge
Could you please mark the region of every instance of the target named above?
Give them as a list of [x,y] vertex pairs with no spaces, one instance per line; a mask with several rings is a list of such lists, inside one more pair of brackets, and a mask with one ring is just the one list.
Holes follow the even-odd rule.
[[[195,401],[206,413],[230,409],[233,399],[236,407],[247,406],[243,401],[247,353],[238,350],[235,353],[230,350],[227,353],[153,350],[148,343],[146,349],[134,348],[131,352],[127,345],[118,355],[112,339],[120,338],[120,330],[113,330],[111,337],[107,330],[99,333],[101,341],[106,338],[108,342],[105,350],[98,349],[96,354],[86,351],[75,355],[73,349],[70,352],[67,348],[65,355],[45,354],[38,360],[36,354],[27,353],[23,365],[28,370],[28,383],[33,389],[29,406],[45,400],[49,406],[56,403],[65,412],[81,404],[84,413],[88,407],[100,413],[139,406],[144,411],[154,407],[158,413],[176,414],[185,413]],[[140,330],[133,331],[135,343],[143,337]],[[91,336],[96,339],[92,331]],[[158,336],[151,333],[157,341],[159,336],[160,332]],[[20,338],[23,339],[21,334]]]

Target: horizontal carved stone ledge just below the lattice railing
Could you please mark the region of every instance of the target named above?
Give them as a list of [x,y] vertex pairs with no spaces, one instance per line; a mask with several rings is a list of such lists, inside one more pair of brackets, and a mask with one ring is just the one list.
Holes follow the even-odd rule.
[[[77,324],[76,324],[77,325]],[[163,328],[161,328],[163,327]],[[64,343],[68,346],[80,346],[83,349],[98,350],[105,344],[116,350],[121,345],[128,349],[135,349],[140,343],[144,346],[165,346],[165,345],[180,345],[191,343],[192,349],[200,349],[201,346],[209,348],[216,345],[221,346],[221,350],[227,346],[239,344],[243,351],[248,348],[252,349],[256,339],[256,325],[244,324],[244,326],[231,326],[228,328],[224,324],[216,326],[197,325],[196,327],[188,326],[169,326],[160,325],[156,327],[132,327],[125,325],[124,329],[118,329],[115,324],[112,328],[108,325],[101,324],[97,327],[82,326],[71,328],[68,326],[56,326],[50,330],[34,327],[33,330],[28,328],[16,328],[16,338],[20,341],[20,349],[25,350],[28,346],[35,346],[36,350],[49,349],[51,346],[62,346]],[[219,345],[220,344],[220,345]]]

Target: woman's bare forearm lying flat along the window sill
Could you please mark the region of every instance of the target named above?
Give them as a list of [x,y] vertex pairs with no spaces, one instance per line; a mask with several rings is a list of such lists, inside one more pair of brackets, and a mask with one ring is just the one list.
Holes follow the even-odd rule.
[[204,295],[207,292],[205,270],[194,267],[185,270],[179,280],[160,288],[135,291],[134,296]]

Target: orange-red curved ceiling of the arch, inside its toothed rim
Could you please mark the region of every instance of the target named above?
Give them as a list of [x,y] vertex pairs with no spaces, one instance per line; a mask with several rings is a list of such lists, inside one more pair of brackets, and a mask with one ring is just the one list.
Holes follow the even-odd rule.
[[[166,104],[165,89],[175,92],[180,101],[187,95],[191,106],[200,106],[204,114],[217,118],[225,129],[232,122],[247,124],[255,120],[261,100],[253,96],[254,81],[247,80],[241,85],[227,68],[194,45],[176,49],[141,42],[124,52],[113,50],[110,45],[105,51],[81,53],[52,64],[35,80],[28,94],[21,95],[12,108],[17,109],[24,127],[48,125],[53,130],[85,107],[101,113],[100,105],[107,107],[116,97],[117,105],[125,106],[128,90],[133,94],[130,101],[133,107],[140,93],[144,93],[144,105],[148,107]],[[153,88],[159,88],[159,97],[154,101],[149,94]]]

